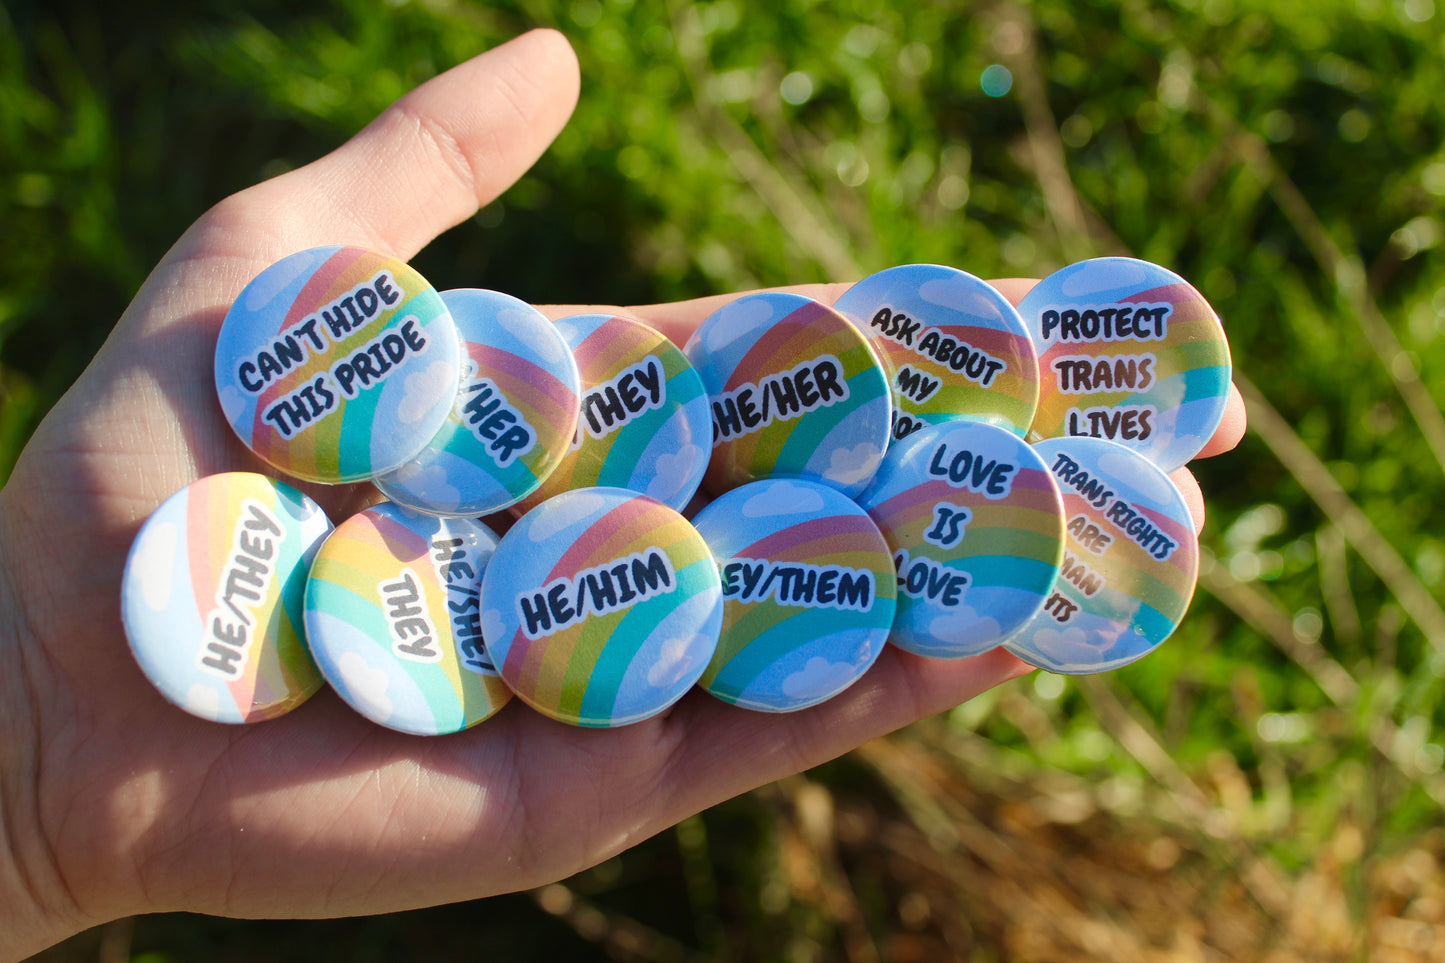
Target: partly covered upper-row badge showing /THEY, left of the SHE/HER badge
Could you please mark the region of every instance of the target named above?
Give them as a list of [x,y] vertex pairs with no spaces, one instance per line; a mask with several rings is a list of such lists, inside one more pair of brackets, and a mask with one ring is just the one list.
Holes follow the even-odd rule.
[[712,454],[696,370],[660,331],[633,318],[584,314],[562,318],[556,330],[582,374],[582,415],[561,464],[513,513],[595,486],[639,492],[681,512]]

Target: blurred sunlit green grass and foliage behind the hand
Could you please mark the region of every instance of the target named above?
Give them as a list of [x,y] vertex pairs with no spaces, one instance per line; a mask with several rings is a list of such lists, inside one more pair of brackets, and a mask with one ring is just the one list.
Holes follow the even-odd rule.
[[[0,476],[195,215],[533,25],[572,39],[581,103],[533,172],[416,259],[439,286],[637,304],[906,262],[1042,276],[1130,253],[1214,302],[1254,431],[1196,466],[1211,521],[1188,623],[1134,667],[1025,680],[900,745],[990,787],[1001,808],[975,810],[1000,837],[1014,826],[1003,803],[1066,826],[1058,800],[1082,794],[1098,834],[1149,827],[1196,853],[1215,886],[1202,892],[1244,881],[1270,923],[1237,959],[1394,959],[1415,924],[1445,946],[1445,910],[1428,918],[1423,896],[1381,882],[1410,859],[1438,881],[1445,856],[1431,834],[1445,804],[1435,0],[4,0]],[[718,807],[530,898],[328,924],[162,917],[124,947],[461,959],[471,928],[506,959],[1071,959],[1022,950],[1023,917],[990,921],[962,898],[945,910],[938,892],[967,881],[928,891],[920,915],[922,883],[887,869],[881,831],[854,844],[837,830],[841,876],[837,853],[803,847],[851,894],[840,904],[819,883],[811,899],[788,827],[815,791],[894,829],[946,810],[870,759]],[[948,843],[955,831],[929,846],[998,870]],[[1263,888],[1248,882],[1261,865]],[[1290,943],[1289,894],[1306,883],[1332,894],[1322,908],[1338,898],[1334,943]],[[1120,933],[1139,923],[1072,896]],[[949,937],[945,912],[972,930]],[[910,934],[946,953],[909,957]]]

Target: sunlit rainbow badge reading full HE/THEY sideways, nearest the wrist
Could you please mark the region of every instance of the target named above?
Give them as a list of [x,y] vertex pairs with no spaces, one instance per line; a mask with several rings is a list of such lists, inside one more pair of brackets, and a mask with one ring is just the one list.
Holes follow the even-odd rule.
[[142,671],[192,716],[249,723],[321,688],[302,636],[306,568],[331,522],[259,474],[212,474],[146,521],[126,560],[121,617]]

